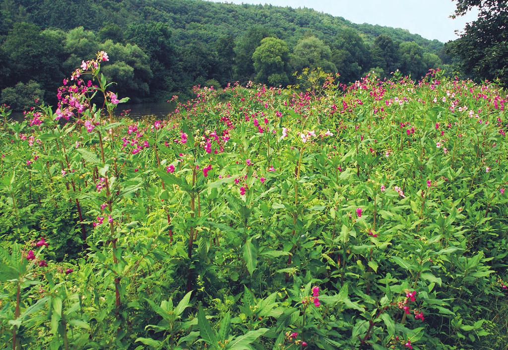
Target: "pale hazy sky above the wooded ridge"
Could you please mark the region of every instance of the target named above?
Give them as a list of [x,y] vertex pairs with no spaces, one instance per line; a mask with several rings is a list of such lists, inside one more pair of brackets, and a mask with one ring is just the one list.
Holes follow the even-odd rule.
[[466,22],[477,18],[470,12],[456,19],[452,0],[211,0],[216,3],[271,4],[273,6],[307,7],[344,17],[353,23],[369,23],[407,29],[426,39],[442,42],[455,40],[455,30],[462,31]]

